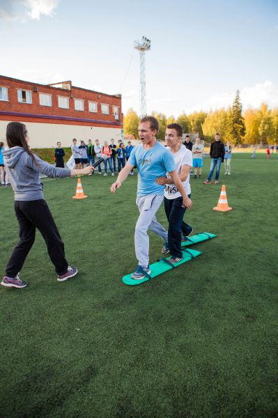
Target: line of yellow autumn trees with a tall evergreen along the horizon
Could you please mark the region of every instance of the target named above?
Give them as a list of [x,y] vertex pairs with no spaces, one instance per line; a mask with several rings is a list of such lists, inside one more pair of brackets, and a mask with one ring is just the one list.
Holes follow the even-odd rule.
[[[185,134],[199,134],[206,142],[213,141],[215,133],[219,132],[224,141],[233,145],[240,144],[278,144],[278,108],[269,109],[268,104],[262,103],[258,109],[247,109],[243,113],[240,102],[240,92],[235,93],[231,107],[215,111],[194,111],[192,114],[183,112],[175,118],[167,117],[153,111],[160,123],[157,139],[164,139],[165,130],[169,123],[179,123]],[[131,108],[123,117],[124,134],[132,134],[138,138],[139,116]]]

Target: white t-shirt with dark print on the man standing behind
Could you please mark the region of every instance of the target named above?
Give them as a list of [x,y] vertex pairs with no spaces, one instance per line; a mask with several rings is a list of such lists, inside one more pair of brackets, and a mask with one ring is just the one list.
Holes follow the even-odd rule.
[[[173,160],[175,161],[175,164],[176,164],[176,171],[178,172],[178,174],[181,173],[181,167],[183,165],[188,165],[192,167],[192,152],[190,150],[187,150],[187,148],[184,145],[180,147],[180,150],[178,151],[178,153],[175,153],[172,155],[173,155]],[[171,178],[168,173],[166,174],[166,177]],[[183,181],[183,186],[185,187],[185,192],[187,193],[187,196],[188,196],[188,194],[191,193],[190,173],[188,173],[187,179]],[[167,199],[176,199],[177,197],[180,197],[181,194],[176,188],[176,185],[172,184],[172,185],[165,185],[164,196]]]

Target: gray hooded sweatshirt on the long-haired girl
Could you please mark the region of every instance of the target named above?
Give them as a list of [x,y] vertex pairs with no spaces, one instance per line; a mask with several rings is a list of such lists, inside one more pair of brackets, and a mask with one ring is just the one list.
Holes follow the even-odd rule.
[[70,170],[54,167],[34,155],[36,162],[21,146],[14,146],[3,152],[10,184],[15,192],[16,201],[43,199],[43,185],[40,173],[47,177],[69,177]]

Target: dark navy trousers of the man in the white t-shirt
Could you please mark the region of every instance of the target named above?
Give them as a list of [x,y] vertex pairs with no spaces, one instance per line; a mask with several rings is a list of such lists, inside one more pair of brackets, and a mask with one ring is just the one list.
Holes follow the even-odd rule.
[[[188,195],[190,198],[190,194]],[[183,258],[181,249],[181,233],[188,235],[192,231],[192,227],[183,222],[186,208],[183,208],[183,198],[167,199],[164,197],[164,209],[169,222],[168,227],[168,247],[171,256]]]

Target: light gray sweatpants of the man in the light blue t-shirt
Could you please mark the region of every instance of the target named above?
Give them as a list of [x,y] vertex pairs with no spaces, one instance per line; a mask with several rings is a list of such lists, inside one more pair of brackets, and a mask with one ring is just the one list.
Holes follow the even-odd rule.
[[142,267],[148,266],[148,229],[160,236],[162,240],[167,241],[167,231],[157,222],[155,217],[163,199],[164,196],[160,194],[137,196],[136,199],[140,215],[135,226],[134,243],[138,264]]

